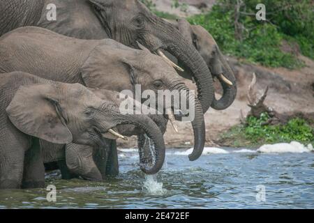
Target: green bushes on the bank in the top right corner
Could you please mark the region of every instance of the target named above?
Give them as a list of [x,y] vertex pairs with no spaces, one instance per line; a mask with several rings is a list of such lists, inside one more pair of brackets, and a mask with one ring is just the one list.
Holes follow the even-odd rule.
[[[211,12],[188,20],[200,24],[216,39],[225,54],[270,67],[299,68],[303,65],[295,53],[281,50],[281,45],[299,45],[301,53],[314,59],[313,2],[263,1],[267,21],[257,21],[257,0],[244,0],[239,13],[237,1],[220,0]],[[237,22],[236,17],[238,17]],[[235,31],[237,29],[237,32]]]

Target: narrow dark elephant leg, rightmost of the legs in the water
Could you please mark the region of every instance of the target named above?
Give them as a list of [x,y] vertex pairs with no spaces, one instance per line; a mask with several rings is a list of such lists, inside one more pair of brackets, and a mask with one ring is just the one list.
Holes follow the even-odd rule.
[[119,160],[117,151],[117,141],[110,139],[108,143],[110,149],[108,151],[106,176],[118,176],[119,175]]

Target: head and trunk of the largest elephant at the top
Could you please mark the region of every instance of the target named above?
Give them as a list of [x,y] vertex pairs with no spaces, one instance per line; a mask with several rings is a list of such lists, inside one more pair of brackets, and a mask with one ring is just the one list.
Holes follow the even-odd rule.
[[185,40],[173,24],[151,13],[138,0],[89,1],[110,38],[135,49],[139,48],[139,42],[180,70],[181,68],[165,57],[163,51],[167,50],[176,56],[193,74],[203,111],[209,109],[214,99],[210,71],[193,44]]

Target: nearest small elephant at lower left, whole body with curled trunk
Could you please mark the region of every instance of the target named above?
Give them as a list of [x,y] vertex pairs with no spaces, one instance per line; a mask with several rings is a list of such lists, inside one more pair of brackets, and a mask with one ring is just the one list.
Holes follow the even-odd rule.
[[121,114],[82,84],[65,84],[25,72],[0,75],[0,189],[43,187],[45,168],[39,139],[53,144],[104,146],[103,134],[117,125],[137,125],[154,141],[156,163],[141,169],[156,174],[165,144],[145,115]]

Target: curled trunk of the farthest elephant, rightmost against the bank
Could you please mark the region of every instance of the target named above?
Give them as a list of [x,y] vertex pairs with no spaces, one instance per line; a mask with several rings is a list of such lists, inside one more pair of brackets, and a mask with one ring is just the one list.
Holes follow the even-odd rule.
[[[216,75],[216,77],[218,77],[218,80],[223,87],[223,96],[219,100],[216,100],[214,97],[211,107],[216,110],[223,110],[229,107],[232,102],[234,102],[234,99],[237,96],[237,83],[232,69],[230,68],[227,61],[225,61],[223,54],[221,54],[219,49],[217,49],[217,56],[214,60],[215,61],[212,63],[214,64],[212,72],[214,75]],[[224,80],[224,77],[227,78],[231,83],[227,84]]]

